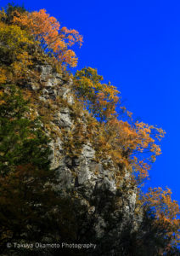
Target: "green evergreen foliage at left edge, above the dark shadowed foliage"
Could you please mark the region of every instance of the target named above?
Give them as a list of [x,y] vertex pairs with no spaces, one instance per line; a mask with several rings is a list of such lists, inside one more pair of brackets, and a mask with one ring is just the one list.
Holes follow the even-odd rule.
[[48,137],[38,119],[25,118],[27,102],[20,90],[2,90],[0,104],[0,171],[3,174],[25,163],[48,168]]

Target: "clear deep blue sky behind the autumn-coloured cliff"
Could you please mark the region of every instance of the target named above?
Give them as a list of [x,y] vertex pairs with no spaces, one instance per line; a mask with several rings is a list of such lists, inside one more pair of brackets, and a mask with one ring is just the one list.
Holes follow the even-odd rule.
[[[0,0],[5,6],[9,1]],[[78,69],[96,67],[121,90],[135,117],[166,130],[150,171],[153,187],[168,186],[180,202],[180,1],[24,0],[47,9],[84,36]]]

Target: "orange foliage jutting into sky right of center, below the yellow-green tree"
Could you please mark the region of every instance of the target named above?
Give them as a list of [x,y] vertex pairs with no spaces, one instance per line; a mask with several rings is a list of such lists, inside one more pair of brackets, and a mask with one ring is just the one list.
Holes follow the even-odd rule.
[[143,122],[130,125],[127,121],[116,118],[110,119],[105,124],[105,129],[110,134],[113,150],[121,153],[121,162],[130,157],[132,168],[138,173],[138,179],[142,181],[148,177],[149,162],[155,161],[156,156],[161,154],[156,140],[164,137],[165,131]]

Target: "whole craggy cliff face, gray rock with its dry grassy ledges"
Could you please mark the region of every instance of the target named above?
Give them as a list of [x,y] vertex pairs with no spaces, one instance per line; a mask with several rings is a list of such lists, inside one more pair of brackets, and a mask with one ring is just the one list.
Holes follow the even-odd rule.
[[[51,116],[50,122],[43,124],[51,137],[51,166],[59,173],[56,189],[67,198],[76,198],[76,218],[81,225],[77,241],[97,244],[87,254],[120,255],[123,234],[133,229],[136,203],[136,188],[127,185],[128,170],[115,166],[109,155],[98,154],[97,158],[92,142],[98,131],[88,140],[88,119],[92,117],[76,107],[73,80],[53,72],[48,64],[36,69],[39,83],[31,80],[26,87],[36,97],[36,114],[44,119]],[[83,141],[78,132],[86,135]],[[118,172],[122,177],[119,183]]]

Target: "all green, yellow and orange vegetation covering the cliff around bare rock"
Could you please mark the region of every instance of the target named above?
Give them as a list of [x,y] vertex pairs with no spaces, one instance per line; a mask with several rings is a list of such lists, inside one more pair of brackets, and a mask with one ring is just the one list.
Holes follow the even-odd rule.
[[[66,198],[65,191],[57,190],[59,179],[57,170],[51,168],[49,146],[55,134],[54,137],[59,136],[64,143],[61,150],[64,150],[66,166],[72,163],[76,166],[82,146],[91,143],[95,150],[94,162],[103,163],[104,170],[114,166],[115,187],[119,191],[116,197],[126,197],[123,193],[127,188],[138,188],[134,216],[141,220],[137,220],[137,230],[124,230],[120,246],[116,248],[118,255],[178,255],[179,206],[177,201],[172,201],[171,190],[149,189],[142,195],[140,189],[149,176],[151,163],[161,154],[159,142],[165,131],[134,122],[132,113],[121,106],[120,92],[110,83],[104,84],[103,77],[92,67],[76,71],[70,84],[73,105],[59,96],[59,81],[64,79],[67,83],[72,77],[65,67],[77,64],[71,49],[74,44],[82,45],[79,32],[60,28],[59,21],[45,9],[27,12],[23,7],[9,4],[0,12],[1,253],[7,253],[9,241],[53,240],[54,243],[74,239],[79,242],[79,237],[88,237],[87,228],[77,225],[76,212],[81,212],[89,225],[93,220],[78,201],[78,193],[70,191]],[[55,98],[52,84],[46,85],[42,78],[40,65],[50,65],[53,70],[48,78],[58,84],[54,86]],[[33,86],[35,90],[31,89]],[[42,93],[48,94],[43,101]],[[56,118],[59,108],[64,116],[60,129],[52,124],[52,119],[54,123],[60,122]],[[97,173],[94,170],[94,175]],[[72,175],[76,177],[75,172]],[[79,186],[77,183],[76,187]],[[81,235],[80,228],[86,236]],[[104,247],[107,246],[110,247],[108,241]],[[105,254],[98,251],[97,255]]]

